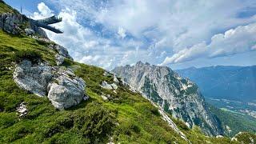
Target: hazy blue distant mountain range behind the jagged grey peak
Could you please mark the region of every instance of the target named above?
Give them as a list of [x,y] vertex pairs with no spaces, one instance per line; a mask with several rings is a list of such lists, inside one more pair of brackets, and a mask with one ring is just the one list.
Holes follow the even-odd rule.
[[256,102],[256,66],[190,67],[176,71],[195,82],[206,98]]

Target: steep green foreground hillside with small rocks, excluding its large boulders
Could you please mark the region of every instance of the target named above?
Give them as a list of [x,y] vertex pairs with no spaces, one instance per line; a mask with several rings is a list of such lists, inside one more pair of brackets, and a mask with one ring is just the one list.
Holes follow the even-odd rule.
[[[234,141],[210,138],[198,127],[188,129],[183,122],[172,118],[169,120],[177,126],[174,129],[166,122],[170,115],[162,118],[161,110],[142,94],[132,92],[119,78],[102,68],[74,62],[72,58],[60,62],[56,57],[60,51],[52,49],[52,45],[56,44],[46,38],[0,30],[0,143],[189,143],[186,138],[191,143],[238,143],[254,138],[254,134],[239,134]],[[49,94],[48,98],[38,97],[34,90],[18,86],[14,71],[22,68],[19,66],[24,60],[37,68],[43,65],[74,71],[69,77],[83,79],[86,99],[59,110]],[[61,85],[58,79],[54,83]]]

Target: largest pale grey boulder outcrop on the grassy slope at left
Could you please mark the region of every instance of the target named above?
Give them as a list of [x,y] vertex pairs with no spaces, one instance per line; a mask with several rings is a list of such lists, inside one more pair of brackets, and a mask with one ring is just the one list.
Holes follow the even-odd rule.
[[85,97],[86,84],[72,70],[24,60],[14,70],[14,82],[39,97],[50,99],[57,109],[75,106]]

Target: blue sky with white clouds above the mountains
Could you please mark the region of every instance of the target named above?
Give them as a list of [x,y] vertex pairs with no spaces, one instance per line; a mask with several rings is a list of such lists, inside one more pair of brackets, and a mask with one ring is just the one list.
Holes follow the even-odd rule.
[[138,61],[182,69],[256,65],[255,0],[5,0],[46,30],[75,61],[112,70]]

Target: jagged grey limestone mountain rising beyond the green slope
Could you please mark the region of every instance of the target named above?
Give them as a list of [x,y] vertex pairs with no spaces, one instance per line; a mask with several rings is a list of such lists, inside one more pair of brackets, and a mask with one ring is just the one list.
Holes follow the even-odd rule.
[[208,135],[222,134],[218,119],[208,110],[198,86],[169,67],[138,62],[135,66],[116,67],[113,72],[187,126],[200,126]]

